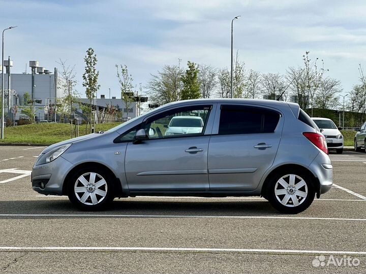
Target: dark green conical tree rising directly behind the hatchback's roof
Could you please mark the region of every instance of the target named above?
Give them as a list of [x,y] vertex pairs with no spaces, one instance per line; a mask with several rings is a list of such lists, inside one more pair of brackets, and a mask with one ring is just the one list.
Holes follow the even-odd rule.
[[198,81],[198,65],[188,61],[188,70],[182,76],[183,89],[180,94],[181,100],[201,98],[200,82]]

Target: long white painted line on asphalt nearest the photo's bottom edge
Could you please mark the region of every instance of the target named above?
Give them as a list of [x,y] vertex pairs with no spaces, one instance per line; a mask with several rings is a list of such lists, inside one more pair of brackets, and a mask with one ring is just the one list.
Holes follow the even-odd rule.
[[291,249],[243,249],[243,248],[163,248],[163,247],[0,247],[0,250],[114,250],[114,251],[179,251],[179,252],[247,252],[247,253],[291,253],[291,254],[346,254],[366,255],[366,251],[291,250]]

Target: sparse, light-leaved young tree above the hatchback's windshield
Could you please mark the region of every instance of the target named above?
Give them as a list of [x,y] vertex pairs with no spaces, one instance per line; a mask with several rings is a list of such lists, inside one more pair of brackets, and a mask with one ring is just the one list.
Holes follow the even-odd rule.
[[127,65],[120,65],[120,72],[117,64],[115,65],[115,67],[117,68],[117,78],[119,83],[119,89],[121,91],[121,98],[125,102],[127,120],[129,109],[135,101],[133,91],[133,78],[132,75],[129,74]]

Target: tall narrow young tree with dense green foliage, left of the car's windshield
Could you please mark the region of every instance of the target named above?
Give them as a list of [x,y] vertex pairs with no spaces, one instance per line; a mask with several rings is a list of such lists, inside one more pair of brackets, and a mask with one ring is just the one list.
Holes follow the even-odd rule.
[[[84,58],[85,61],[85,72],[83,74],[83,87],[85,87],[86,97],[89,99],[89,122],[90,122],[90,133],[92,132],[92,111],[93,111],[93,100],[96,98],[97,91],[100,88],[98,85],[99,71],[97,71],[97,55],[94,53],[93,48],[88,48]],[[97,108],[97,106],[96,106]],[[95,110],[98,112],[98,108]],[[98,114],[97,114],[98,115]],[[87,126],[86,126],[87,128]]]

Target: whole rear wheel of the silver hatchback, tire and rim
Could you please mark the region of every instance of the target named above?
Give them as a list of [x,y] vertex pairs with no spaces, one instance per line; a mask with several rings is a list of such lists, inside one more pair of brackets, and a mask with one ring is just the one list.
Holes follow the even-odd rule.
[[288,214],[306,210],[315,196],[312,179],[302,170],[275,174],[270,179],[267,193],[273,208]]

